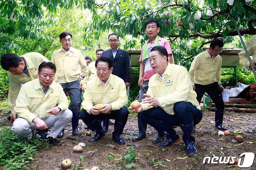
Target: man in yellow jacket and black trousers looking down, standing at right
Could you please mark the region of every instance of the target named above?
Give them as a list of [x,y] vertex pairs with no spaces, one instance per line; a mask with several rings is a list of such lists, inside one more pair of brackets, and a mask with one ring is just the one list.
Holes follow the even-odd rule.
[[189,78],[191,79],[193,90],[197,94],[197,101],[200,103],[203,94],[207,92],[215,103],[215,126],[220,130],[227,130],[222,125],[224,114],[224,102],[222,99],[223,86],[221,85],[221,63],[222,58],[219,54],[222,52],[224,43],[219,40],[213,40],[209,49],[198,54],[193,60]]

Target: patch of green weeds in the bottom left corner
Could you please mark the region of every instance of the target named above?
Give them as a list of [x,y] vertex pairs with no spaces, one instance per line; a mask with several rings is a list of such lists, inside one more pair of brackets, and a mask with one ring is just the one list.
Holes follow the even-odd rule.
[[6,126],[0,131],[0,166],[7,170],[30,169],[33,156],[44,144],[36,136],[23,141],[16,141],[16,137]]

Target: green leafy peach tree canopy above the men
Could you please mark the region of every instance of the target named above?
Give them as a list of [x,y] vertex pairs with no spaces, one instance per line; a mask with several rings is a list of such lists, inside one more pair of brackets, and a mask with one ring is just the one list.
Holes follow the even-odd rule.
[[224,47],[242,47],[232,17],[244,40],[256,34],[256,0],[1,0],[0,51],[18,52],[25,48],[21,40],[33,40],[33,47],[43,43],[45,54],[61,31],[70,31],[63,25],[74,23],[87,49],[104,33],[116,32],[124,49],[139,50],[147,39],[144,24],[156,18],[176,64],[188,66],[215,38],[222,38]]

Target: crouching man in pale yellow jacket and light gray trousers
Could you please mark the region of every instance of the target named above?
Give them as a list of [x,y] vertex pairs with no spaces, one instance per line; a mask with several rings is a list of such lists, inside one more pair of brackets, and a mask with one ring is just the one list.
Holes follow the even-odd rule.
[[[56,139],[68,125],[72,111],[68,110],[68,99],[59,83],[53,82],[56,66],[52,62],[42,62],[38,68],[38,78],[22,85],[14,110],[18,118],[12,125],[12,132],[19,139],[48,139],[50,144],[61,145]],[[51,128],[46,135],[43,130]]]

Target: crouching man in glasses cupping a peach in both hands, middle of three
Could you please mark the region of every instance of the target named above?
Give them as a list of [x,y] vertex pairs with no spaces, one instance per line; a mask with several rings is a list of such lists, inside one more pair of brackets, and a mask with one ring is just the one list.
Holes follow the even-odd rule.
[[123,79],[112,75],[113,62],[109,57],[99,57],[95,62],[97,76],[87,83],[80,112],[82,121],[96,132],[89,142],[98,141],[105,132],[98,120],[114,119],[112,138],[117,144],[125,144],[120,135],[128,119],[128,102]]

